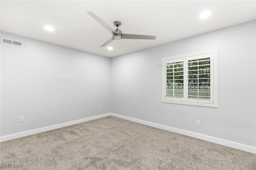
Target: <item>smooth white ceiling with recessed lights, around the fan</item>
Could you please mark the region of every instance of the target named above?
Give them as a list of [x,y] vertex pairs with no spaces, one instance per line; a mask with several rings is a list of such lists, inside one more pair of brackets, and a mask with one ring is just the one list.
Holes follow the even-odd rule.
[[[256,1],[3,1],[1,31],[114,57],[256,19]],[[206,10],[211,16],[201,19]],[[114,30],[156,36],[156,40],[115,40],[87,14],[94,12]],[[44,30],[54,27],[53,32]],[[8,38],[8,37],[6,37]],[[108,46],[114,49],[109,51]]]

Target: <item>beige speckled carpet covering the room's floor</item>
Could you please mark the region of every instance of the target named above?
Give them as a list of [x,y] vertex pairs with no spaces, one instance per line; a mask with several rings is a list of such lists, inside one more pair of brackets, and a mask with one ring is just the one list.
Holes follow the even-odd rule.
[[116,117],[1,142],[0,149],[1,169],[256,170],[256,154]]

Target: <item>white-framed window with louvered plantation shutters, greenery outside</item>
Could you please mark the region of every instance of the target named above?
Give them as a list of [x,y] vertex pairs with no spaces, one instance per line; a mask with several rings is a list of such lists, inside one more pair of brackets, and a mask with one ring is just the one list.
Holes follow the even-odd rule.
[[162,59],[162,102],[218,107],[217,49]]

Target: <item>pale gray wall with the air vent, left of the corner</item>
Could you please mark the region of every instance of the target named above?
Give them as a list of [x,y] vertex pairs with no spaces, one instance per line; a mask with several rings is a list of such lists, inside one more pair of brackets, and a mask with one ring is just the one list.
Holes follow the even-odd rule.
[[1,37],[24,44],[1,44],[1,136],[110,113],[110,58],[5,32]]

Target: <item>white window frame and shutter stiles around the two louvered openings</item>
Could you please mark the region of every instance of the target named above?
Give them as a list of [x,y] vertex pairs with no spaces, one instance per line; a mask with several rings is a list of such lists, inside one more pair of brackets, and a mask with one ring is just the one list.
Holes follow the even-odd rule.
[[[198,58],[199,57],[199,58]],[[188,97],[188,61],[194,59],[210,58],[210,99],[194,99]],[[167,97],[167,63],[184,62],[184,91],[183,97]],[[199,75],[196,74],[196,75]],[[218,107],[218,49],[190,53],[162,59],[162,102],[206,107]]]

